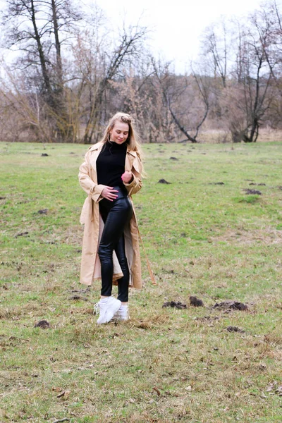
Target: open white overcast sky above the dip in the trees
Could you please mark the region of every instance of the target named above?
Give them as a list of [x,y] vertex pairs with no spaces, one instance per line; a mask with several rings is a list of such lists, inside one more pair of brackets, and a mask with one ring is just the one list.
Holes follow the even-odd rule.
[[[87,0],[82,0],[87,4]],[[281,6],[282,0],[276,0]],[[197,55],[202,31],[221,15],[246,16],[259,7],[260,0],[96,0],[115,27],[123,22],[152,29],[150,44],[183,73]]]

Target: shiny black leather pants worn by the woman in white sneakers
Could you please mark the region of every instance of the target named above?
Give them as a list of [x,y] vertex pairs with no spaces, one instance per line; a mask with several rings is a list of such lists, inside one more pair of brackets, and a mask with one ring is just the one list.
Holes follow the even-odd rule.
[[118,190],[116,200],[111,202],[103,198],[99,202],[99,212],[105,224],[98,249],[102,276],[101,295],[111,295],[114,273],[113,251],[115,251],[123,272],[123,277],[118,279],[118,300],[127,302],[129,269],[125,256],[123,231],[133,215],[133,207],[126,188],[114,187],[114,189]]

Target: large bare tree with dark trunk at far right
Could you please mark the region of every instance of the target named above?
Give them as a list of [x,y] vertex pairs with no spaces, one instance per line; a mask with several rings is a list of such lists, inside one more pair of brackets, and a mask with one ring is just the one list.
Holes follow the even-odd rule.
[[[230,27],[233,69],[223,89],[217,92],[223,121],[227,121],[233,141],[256,142],[259,127],[269,116],[276,97],[273,87],[277,64],[274,15],[264,8],[244,22]],[[217,51],[217,49],[216,49]]]

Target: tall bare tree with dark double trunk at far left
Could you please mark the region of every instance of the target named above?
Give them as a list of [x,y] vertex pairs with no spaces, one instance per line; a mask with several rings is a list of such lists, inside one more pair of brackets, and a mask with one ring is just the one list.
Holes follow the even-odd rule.
[[7,0],[3,14],[6,45],[18,49],[16,68],[32,68],[30,75],[49,106],[58,140],[68,139],[68,116],[63,98],[61,47],[71,25],[80,20],[69,0]]

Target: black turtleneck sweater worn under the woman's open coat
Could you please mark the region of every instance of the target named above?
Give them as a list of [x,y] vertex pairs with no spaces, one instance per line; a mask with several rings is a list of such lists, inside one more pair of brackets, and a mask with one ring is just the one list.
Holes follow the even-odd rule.
[[97,157],[98,183],[108,187],[124,186],[121,175],[124,173],[127,143],[117,144],[107,141]]

